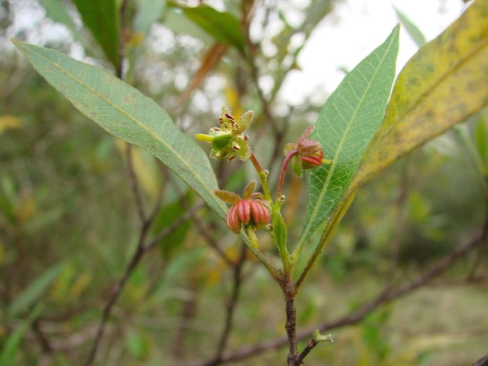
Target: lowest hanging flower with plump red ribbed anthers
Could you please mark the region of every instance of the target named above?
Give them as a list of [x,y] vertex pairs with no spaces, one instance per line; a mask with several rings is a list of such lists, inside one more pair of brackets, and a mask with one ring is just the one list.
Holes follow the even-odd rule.
[[243,198],[235,193],[224,190],[213,192],[222,201],[233,204],[227,212],[227,227],[234,233],[241,233],[241,224],[244,227],[252,227],[259,230],[265,227],[270,221],[270,206],[262,193],[252,193],[256,181],[252,181],[244,190]]

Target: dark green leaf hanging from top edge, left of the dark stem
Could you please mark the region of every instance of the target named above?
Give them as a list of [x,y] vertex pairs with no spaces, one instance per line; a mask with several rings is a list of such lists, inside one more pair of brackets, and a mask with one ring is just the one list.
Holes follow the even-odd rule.
[[102,47],[107,59],[116,69],[120,68],[119,54],[119,13],[115,0],[73,0],[83,23],[88,27],[98,44]]

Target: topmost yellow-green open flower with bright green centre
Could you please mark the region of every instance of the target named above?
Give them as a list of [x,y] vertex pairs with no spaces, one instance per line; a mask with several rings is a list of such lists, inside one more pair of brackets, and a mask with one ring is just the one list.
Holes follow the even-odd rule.
[[251,156],[251,148],[247,143],[249,137],[243,132],[252,123],[253,112],[245,112],[236,122],[229,108],[222,107],[222,115],[219,118],[220,128],[213,127],[208,135],[199,133],[195,135],[197,140],[206,141],[212,147],[210,157],[213,159],[228,158],[229,162],[235,158],[247,160]]

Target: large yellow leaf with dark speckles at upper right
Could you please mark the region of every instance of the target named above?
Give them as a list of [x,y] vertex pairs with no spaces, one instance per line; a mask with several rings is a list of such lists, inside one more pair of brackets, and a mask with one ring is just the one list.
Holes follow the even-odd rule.
[[488,0],[478,0],[399,74],[385,119],[346,195],[487,105],[487,60]]

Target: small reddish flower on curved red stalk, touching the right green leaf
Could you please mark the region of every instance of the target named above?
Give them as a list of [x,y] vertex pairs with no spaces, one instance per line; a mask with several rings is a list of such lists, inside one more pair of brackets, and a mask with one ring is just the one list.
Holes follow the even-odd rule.
[[322,145],[320,142],[308,138],[313,130],[313,126],[307,128],[297,140],[296,144],[286,144],[284,146],[284,155],[288,155],[293,150],[298,151],[291,160],[291,168],[298,178],[301,178],[303,169],[317,168],[324,162],[330,163],[328,160],[323,159]]

